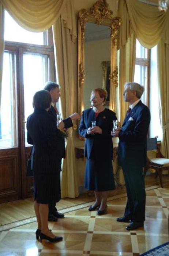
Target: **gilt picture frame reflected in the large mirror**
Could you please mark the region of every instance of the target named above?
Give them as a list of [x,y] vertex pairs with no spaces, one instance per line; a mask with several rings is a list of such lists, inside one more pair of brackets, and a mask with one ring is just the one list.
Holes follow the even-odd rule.
[[109,106],[110,100],[110,61],[102,61],[102,88],[108,92],[108,97],[105,106]]

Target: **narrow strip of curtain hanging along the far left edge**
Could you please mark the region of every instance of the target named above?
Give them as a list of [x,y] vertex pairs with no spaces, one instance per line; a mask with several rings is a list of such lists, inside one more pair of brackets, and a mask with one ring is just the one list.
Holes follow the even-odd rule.
[[1,107],[1,91],[2,91],[3,55],[4,55],[4,8],[0,3],[0,107]]

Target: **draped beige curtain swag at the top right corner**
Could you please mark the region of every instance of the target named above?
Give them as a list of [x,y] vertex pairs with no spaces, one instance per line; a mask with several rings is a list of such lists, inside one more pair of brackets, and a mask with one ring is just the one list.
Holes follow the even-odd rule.
[[[124,0],[122,0],[124,1]],[[136,0],[125,0],[132,31],[146,48],[152,48],[161,38],[169,43],[169,15],[158,7]]]

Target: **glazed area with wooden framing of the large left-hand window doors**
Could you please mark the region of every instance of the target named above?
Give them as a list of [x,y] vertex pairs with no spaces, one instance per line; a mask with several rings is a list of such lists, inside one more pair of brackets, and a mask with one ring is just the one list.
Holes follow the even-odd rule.
[[0,149],[18,147],[33,95],[55,81],[52,28],[41,33],[23,29],[5,11],[5,49],[0,109]]

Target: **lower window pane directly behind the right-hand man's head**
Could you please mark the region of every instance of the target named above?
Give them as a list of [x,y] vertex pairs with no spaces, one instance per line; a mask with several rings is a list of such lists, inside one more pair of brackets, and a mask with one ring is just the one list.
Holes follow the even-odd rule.
[[134,82],[144,86],[141,100],[147,104],[147,66],[135,65]]

